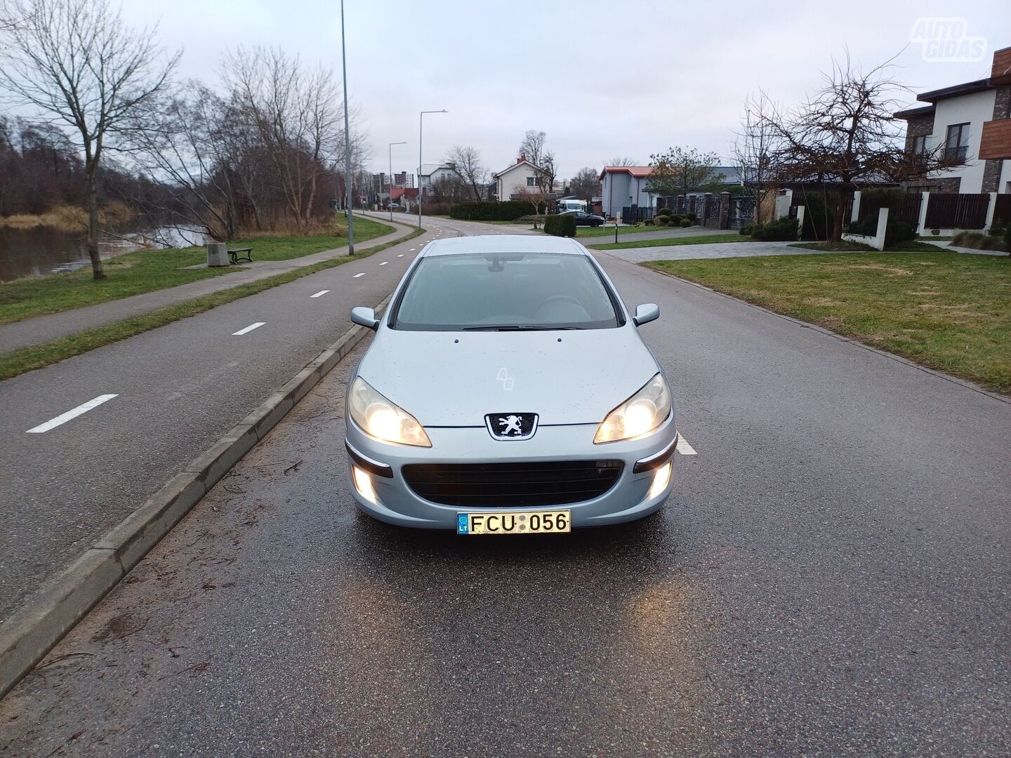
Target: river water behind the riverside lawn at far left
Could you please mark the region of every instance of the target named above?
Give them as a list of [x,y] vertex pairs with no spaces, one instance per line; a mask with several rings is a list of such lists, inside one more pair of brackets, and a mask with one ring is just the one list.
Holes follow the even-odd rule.
[[[185,248],[205,243],[206,239],[198,231],[158,227],[134,229],[123,232],[120,238],[107,236],[99,243],[98,251],[107,259],[141,248]],[[0,226],[0,282],[75,271],[89,265],[83,233],[61,231],[52,226]]]

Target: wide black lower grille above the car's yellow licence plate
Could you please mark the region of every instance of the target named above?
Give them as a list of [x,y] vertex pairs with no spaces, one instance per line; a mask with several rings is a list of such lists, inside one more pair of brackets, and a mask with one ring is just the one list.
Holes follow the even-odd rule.
[[411,463],[401,468],[419,497],[443,505],[507,508],[564,505],[600,497],[622,473],[621,461]]

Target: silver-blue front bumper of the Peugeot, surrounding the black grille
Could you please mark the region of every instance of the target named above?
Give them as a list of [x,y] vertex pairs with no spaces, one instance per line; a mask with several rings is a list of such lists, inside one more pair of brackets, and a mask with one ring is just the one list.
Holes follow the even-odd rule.
[[[666,487],[649,496],[656,470],[672,460],[677,433],[673,412],[656,432],[638,440],[593,445],[598,424],[540,427],[529,440],[493,440],[481,428],[426,428],[431,448],[416,448],[375,440],[350,418],[347,421],[349,487],[355,502],[379,520],[416,529],[456,530],[457,513],[500,512],[508,510],[568,509],[572,526],[599,527],[631,522],[649,515],[666,499],[673,475]],[[561,505],[516,508],[474,508],[445,505],[419,496],[400,471],[417,463],[527,463],[546,461],[621,460],[624,468],[614,486],[599,497]],[[353,468],[369,474],[375,502],[364,497],[355,485]]]

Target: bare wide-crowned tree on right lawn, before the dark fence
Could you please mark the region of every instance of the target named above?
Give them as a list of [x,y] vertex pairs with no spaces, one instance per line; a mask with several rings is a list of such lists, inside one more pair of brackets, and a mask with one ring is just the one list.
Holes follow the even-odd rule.
[[834,242],[842,239],[846,196],[857,187],[906,181],[964,163],[963,157],[944,155],[940,146],[915,156],[905,151],[893,115],[905,88],[892,78],[893,70],[886,62],[864,74],[848,55],[844,63],[833,60],[831,71],[822,75],[822,88],[807,102],[763,116],[779,146],[772,156],[779,180],[838,185]]

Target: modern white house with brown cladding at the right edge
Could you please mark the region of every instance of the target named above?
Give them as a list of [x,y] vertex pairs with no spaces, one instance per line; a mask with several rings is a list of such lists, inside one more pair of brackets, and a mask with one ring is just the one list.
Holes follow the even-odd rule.
[[896,113],[906,150],[964,161],[904,184],[911,192],[1011,193],[1011,48],[994,53],[986,79],[916,96],[929,103]]

